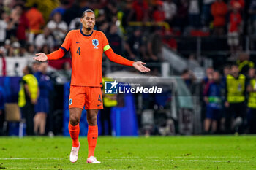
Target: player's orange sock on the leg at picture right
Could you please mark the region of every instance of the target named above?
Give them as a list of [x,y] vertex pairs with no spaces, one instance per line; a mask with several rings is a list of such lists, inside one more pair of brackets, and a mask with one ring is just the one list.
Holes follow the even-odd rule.
[[98,125],[95,125],[95,126],[89,125],[88,134],[87,134],[88,158],[90,156],[94,156],[94,150],[96,147],[97,138],[98,138]]

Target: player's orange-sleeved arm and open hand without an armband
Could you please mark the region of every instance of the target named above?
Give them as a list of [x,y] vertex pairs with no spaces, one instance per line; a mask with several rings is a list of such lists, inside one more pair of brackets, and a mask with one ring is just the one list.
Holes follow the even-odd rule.
[[59,48],[59,50],[53,51],[53,53],[50,53],[48,55],[46,55],[45,53],[37,53],[37,57],[34,57],[33,59],[35,61],[57,60],[63,57],[64,54],[65,51],[62,48]]

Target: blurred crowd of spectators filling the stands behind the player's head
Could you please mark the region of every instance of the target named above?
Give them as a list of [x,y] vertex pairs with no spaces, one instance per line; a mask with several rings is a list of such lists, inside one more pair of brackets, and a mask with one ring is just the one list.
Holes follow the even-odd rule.
[[[93,9],[95,29],[104,31],[116,53],[130,59],[162,61],[161,47],[177,50],[176,36],[224,36],[231,53],[241,50],[239,35],[256,33],[256,1],[244,0],[60,0],[49,16],[40,3],[0,1],[0,52],[5,56],[50,53],[80,16]],[[165,24],[162,24],[165,22]]]

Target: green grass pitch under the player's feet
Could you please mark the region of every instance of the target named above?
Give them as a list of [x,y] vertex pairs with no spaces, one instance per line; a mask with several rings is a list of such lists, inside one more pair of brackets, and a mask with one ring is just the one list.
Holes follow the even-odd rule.
[[0,169],[256,169],[256,136],[99,136],[101,164],[87,164],[80,143],[70,163],[69,137],[0,137]]

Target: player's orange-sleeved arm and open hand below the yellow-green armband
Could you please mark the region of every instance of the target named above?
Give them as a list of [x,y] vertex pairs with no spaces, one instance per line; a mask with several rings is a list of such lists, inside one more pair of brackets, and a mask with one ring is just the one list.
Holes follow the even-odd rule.
[[105,51],[105,54],[110,59],[110,61],[113,61],[115,63],[119,63],[125,66],[133,66],[135,69],[137,69],[140,72],[150,72],[150,69],[148,69],[145,65],[146,63],[143,63],[141,61],[129,61],[126,58],[123,58],[121,55],[118,55],[113,52],[112,48],[109,48]]

